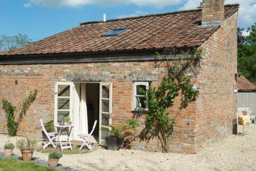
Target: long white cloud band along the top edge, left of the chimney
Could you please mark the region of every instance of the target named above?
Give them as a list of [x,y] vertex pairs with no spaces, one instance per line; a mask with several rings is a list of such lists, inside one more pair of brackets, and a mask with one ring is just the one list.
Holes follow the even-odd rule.
[[168,5],[177,5],[184,0],[30,0],[31,3],[38,6],[47,6],[53,8],[60,7],[81,7],[85,5],[98,5],[103,7],[112,7],[116,5],[135,4],[137,6],[148,6],[161,9]]

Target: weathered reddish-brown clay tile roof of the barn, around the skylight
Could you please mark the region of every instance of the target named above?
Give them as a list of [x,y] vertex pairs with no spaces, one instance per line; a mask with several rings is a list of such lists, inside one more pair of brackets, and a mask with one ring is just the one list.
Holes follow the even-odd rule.
[[[225,19],[238,11],[225,6]],[[54,54],[197,46],[220,26],[201,27],[202,9],[84,22],[80,26],[16,48],[4,55]],[[116,36],[100,37],[118,28]]]

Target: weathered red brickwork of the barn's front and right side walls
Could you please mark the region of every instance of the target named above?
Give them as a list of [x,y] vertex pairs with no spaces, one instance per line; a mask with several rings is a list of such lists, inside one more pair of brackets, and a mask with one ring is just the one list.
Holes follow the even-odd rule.
[[[232,119],[237,107],[237,94],[233,93],[236,88],[234,74],[237,71],[237,13],[226,19],[201,47],[204,55],[195,82],[200,88],[200,95],[178,117],[170,140],[172,152],[196,153],[203,146],[232,133]],[[145,115],[132,112],[133,82],[130,77],[136,74],[154,76],[158,72],[153,61],[0,65],[0,99],[6,98],[18,105],[30,90],[37,88],[37,99],[17,134],[40,137],[39,119],[54,118],[55,82],[66,82],[67,75],[108,75],[109,82],[113,83],[112,123],[123,123],[127,118],[134,117],[140,123],[137,130],[139,134],[144,126]],[[160,78],[164,73],[164,68],[160,68]],[[15,80],[18,81],[16,85]],[[154,81],[153,85],[157,85],[157,82]],[[179,104],[177,99],[170,112],[175,112]],[[7,133],[2,104],[0,132]],[[158,152],[161,151],[161,144],[157,138],[149,142],[139,142],[139,138],[136,138],[132,149]]]

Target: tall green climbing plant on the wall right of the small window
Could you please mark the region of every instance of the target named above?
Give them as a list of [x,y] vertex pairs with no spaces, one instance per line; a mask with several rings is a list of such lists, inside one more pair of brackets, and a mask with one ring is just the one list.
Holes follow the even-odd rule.
[[[140,139],[158,137],[162,151],[168,153],[170,135],[173,133],[178,115],[189,103],[195,101],[199,94],[199,89],[194,88],[193,78],[197,77],[202,49],[166,48],[163,53],[162,57],[157,53],[156,67],[159,68],[159,79],[160,66],[166,68],[167,74],[158,81],[158,86],[149,87],[148,90],[140,89],[140,92],[146,95],[148,104],[145,128],[140,134]],[[179,110],[176,111],[175,117],[170,118],[169,108],[178,96],[181,97]]]

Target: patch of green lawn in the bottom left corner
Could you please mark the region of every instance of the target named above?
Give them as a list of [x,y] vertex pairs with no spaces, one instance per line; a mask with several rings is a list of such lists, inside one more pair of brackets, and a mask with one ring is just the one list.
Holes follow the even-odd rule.
[[0,158],[1,171],[57,171],[47,167],[41,167],[34,162],[20,162],[14,158]]

